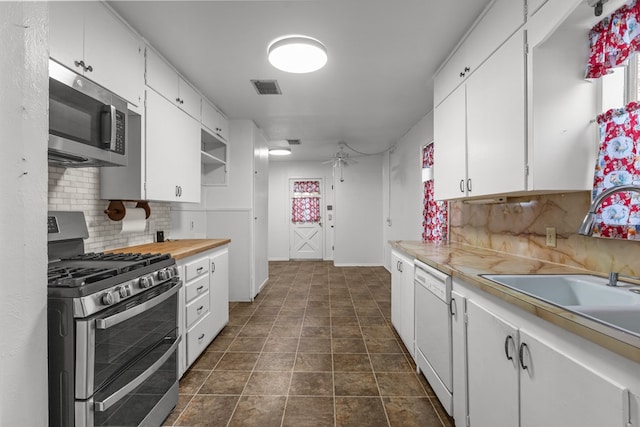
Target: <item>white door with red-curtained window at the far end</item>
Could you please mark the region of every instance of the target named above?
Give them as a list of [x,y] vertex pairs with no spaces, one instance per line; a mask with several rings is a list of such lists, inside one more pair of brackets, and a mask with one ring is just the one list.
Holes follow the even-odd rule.
[[290,259],[322,259],[322,179],[289,180]]

